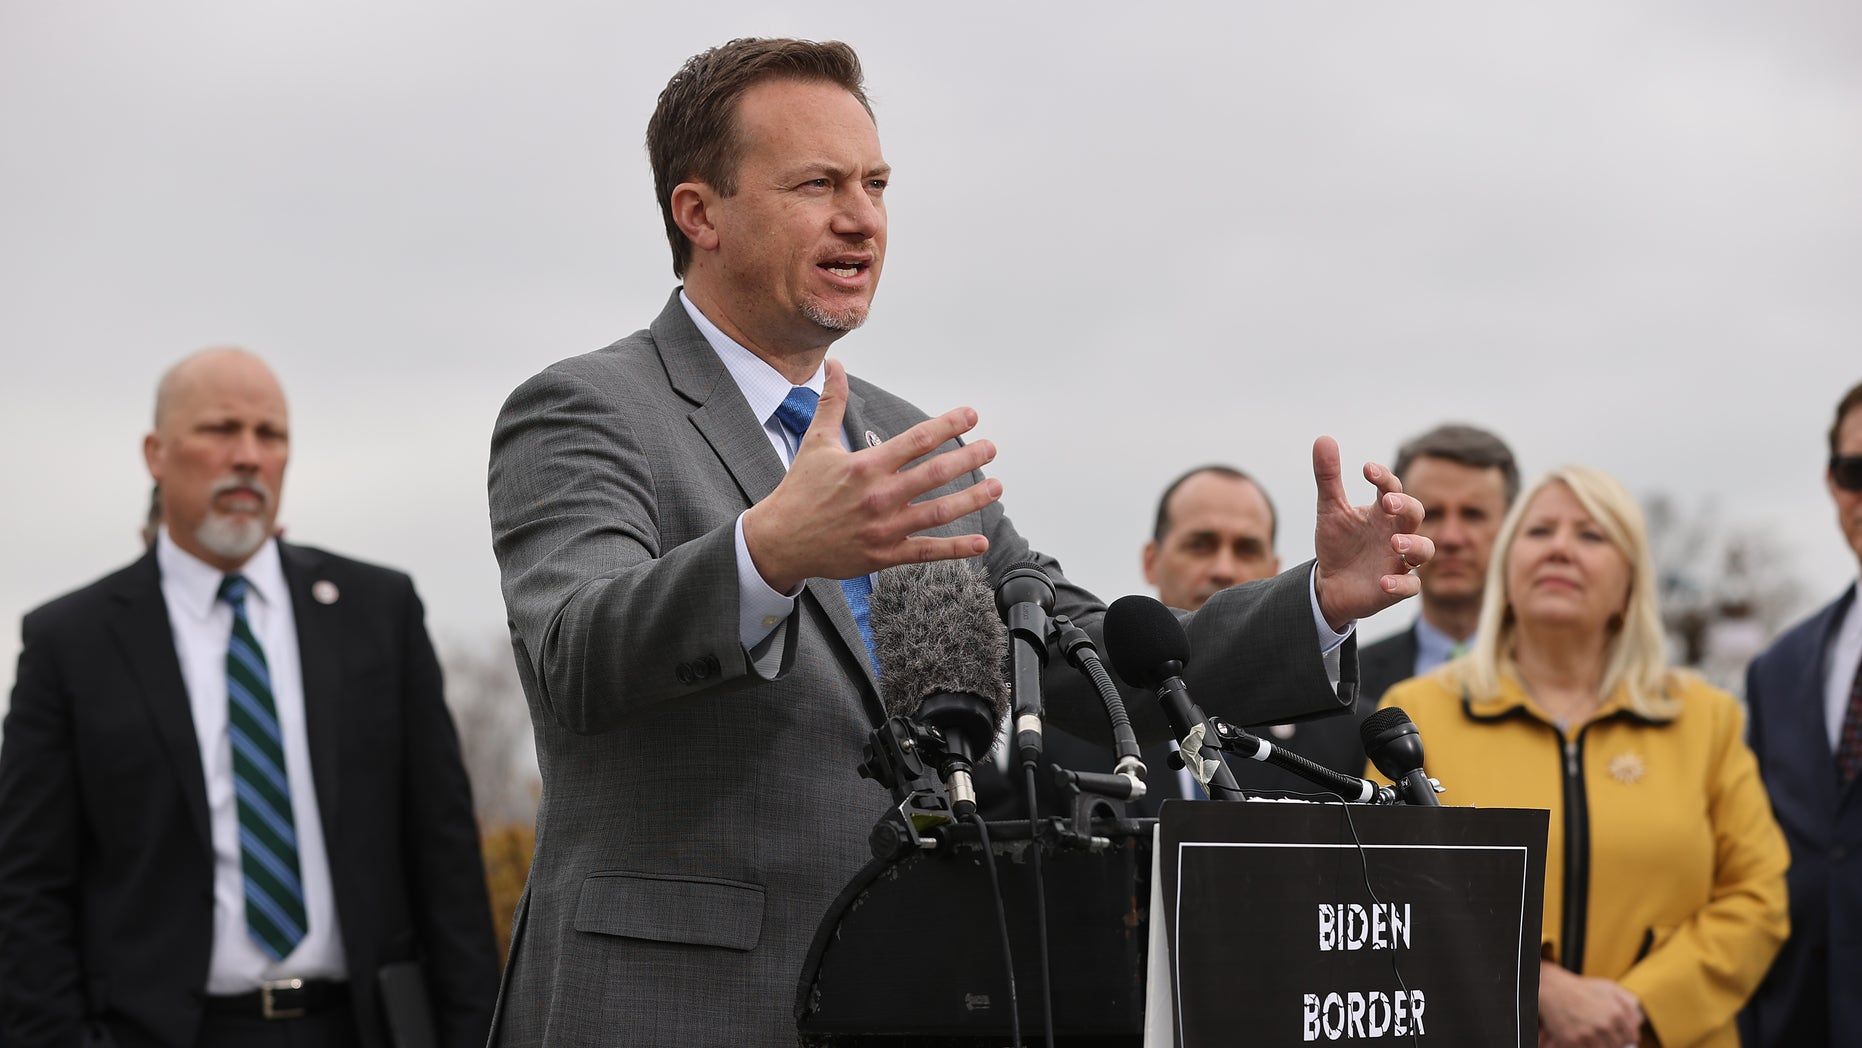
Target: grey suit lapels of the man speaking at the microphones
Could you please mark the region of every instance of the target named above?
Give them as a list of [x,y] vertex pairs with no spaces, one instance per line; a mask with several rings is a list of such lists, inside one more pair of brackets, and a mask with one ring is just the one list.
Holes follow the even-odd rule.
[[[717,359],[717,352],[704,341],[698,328],[693,326],[691,316],[685,315],[685,305],[680,302],[678,292],[659,311],[659,316],[652,324],[652,333],[659,359],[667,369],[667,380],[680,396],[695,404],[689,415],[693,426],[711,445],[711,450],[717,452],[724,469],[730,471],[737,491],[743,495],[743,506],[750,508],[767,499],[786,475],[782,460],[776,458],[776,449],[769,447],[763,421],[750,413],[750,406],[743,400],[743,391],[737,389],[737,383],[730,380],[724,361]],[[849,447],[855,450],[866,447],[860,396],[851,391],[847,395],[843,428],[847,430]],[[840,583],[808,579],[803,592],[821,607],[829,622],[834,624],[840,642],[853,655],[853,661],[860,665],[862,679],[866,681],[862,700],[868,711],[879,709],[879,681],[873,678],[873,666],[866,657],[866,640],[860,638],[860,629],[853,622],[853,612],[847,609],[847,596],[842,592]]]

